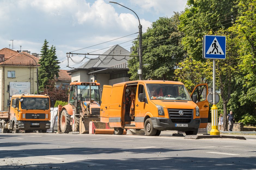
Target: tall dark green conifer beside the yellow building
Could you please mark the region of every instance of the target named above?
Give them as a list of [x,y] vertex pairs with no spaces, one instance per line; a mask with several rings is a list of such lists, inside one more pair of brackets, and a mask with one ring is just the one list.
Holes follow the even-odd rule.
[[41,58],[39,59],[38,81],[40,90],[44,90],[49,79],[54,79],[55,76],[58,76],[58,69],[60,68],[55,46],[52,45],[50,49],[48,47],[48,42],[45,39],[41,48]]

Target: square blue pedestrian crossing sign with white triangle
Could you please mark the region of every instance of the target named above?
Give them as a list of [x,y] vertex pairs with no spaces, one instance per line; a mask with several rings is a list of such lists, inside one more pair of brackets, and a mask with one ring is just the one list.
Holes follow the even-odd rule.
[[225,36],[203,36],[203,58],[225,59],[226,37]]

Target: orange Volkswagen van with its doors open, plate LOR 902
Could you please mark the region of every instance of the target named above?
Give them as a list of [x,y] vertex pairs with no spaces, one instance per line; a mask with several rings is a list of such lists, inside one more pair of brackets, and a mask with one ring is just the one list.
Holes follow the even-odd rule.
[[175,81],[139,80],[104,85],[100,121],[114,127],[115,134],[123,134],[124,129],[144,129],[148,136],[158,136],[163,130],[194,135],[207,126],[207,94],[207,84],[197,85],[189,95],[184,84]]

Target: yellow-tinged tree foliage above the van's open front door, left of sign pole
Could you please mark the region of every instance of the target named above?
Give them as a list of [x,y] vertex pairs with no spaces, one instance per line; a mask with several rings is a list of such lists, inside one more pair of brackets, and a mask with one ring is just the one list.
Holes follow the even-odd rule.
[[187,57],[178,64],[178,68],[174,71],[175,79],[182,82],[188,92],[192,92],[197,84],[212,83],[212,61],[207,62],[196,61],[192,57]]

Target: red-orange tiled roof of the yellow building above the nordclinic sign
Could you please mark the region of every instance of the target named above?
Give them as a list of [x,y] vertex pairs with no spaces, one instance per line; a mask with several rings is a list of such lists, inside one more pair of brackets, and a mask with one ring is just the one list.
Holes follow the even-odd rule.
[[[1,62],[0,65],[11,65],[11,66],[36,66],[36,63],[39,62],[39,59],[35,56],[32,56],[26,52],[17,53],[16,55],[10,57],[8,60]],[[39,64],[37,64],[40,66]]]

